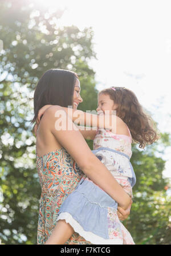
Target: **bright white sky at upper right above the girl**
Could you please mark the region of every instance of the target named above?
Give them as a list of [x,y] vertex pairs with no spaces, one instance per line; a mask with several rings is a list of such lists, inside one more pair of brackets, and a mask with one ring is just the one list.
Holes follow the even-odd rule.
[[[152,113],[158,129],[171,133],[170,0],[34,0],[65,9],[59,26],[92,27],[97,89],[124,86]],[[171,177],[171,147],[164,175]]]

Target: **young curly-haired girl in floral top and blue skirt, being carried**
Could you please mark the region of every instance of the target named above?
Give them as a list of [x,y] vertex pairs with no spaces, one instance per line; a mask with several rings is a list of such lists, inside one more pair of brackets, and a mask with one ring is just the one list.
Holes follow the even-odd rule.
[[[65,107],[60,109],[66,111],[73,121],[78,121],[78,117],[74,117],[75,111],[71,113]],[[109,127],[113,117],[112,110],[116,110],[117,133],[114,127]],[[76,111],[80,113],[80,124],[92,127],[97,125],[97,130],[80,130],[84,138],[93,139],[93,153],[132,197],[132,187],[136,183],[130,162],[132,138],[135,143],[140,143],[140,148],[144,148],[146,143],[152,144],[156,141],[157,134],[153,129],[152,119],[144,113],[136,95],[124,87],[111,87],[100,91],[97,111],[104,116],[99,115],[97,122],[94,121],[94,115]],[[41,114],[39,113],[39,117]],[[102,117],[110,118],[109,122],[104,124]],[[129,127],[128,135],[122,134],[124,126]],[[68,229],[63,220],[68,223]],[[86,176],[63,202],[57,221],[54,231],[46,241],[47,245],[65,243],[74,231],[97,245],[135,244],[128,230],[119,221],[117,202]]]

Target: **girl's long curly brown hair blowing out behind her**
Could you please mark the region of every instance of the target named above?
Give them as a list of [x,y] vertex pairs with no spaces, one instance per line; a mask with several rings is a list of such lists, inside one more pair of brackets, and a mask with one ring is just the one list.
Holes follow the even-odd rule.
[[110,87],[101,90],[99,94],[109,95],[118,105],[116,115],[127,124],[133,143],[139,143],[140,149],[144,149],[146,144],[152,144],[160,138],[156,123],[140,105],[133,91],[125,87]]

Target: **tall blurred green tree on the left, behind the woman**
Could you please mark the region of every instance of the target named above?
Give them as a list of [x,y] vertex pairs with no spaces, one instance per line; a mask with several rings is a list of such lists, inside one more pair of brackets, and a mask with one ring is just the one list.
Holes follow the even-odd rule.
[[[39,10],[31,1],[1,1],[1,129],[0,187],[2,243],[36,243],[40,185],[31,133],[33,93],[42,74],[51,68],[78,73],[84,103],[95,109],[97,91],[88,60],[92,30],[58,27],[60,11]],[[90,103],[90,104],[89,104]]]

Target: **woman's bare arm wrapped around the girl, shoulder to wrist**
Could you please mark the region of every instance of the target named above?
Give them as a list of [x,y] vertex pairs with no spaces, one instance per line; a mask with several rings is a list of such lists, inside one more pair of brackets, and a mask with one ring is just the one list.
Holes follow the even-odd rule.
[[83,173],[109,194],[120,207],[124,210],[128,209],[131,198],[112,176],[107,167],[91,152],[82,134],[80,134],[72,120],[67,116],[66,129],[56,130],[56,122],[60,119],[59,117],[55,117],[56,110],[59,110],[59,107],[49,107],[41,121],[50,129],[60,145],[75,159]]

